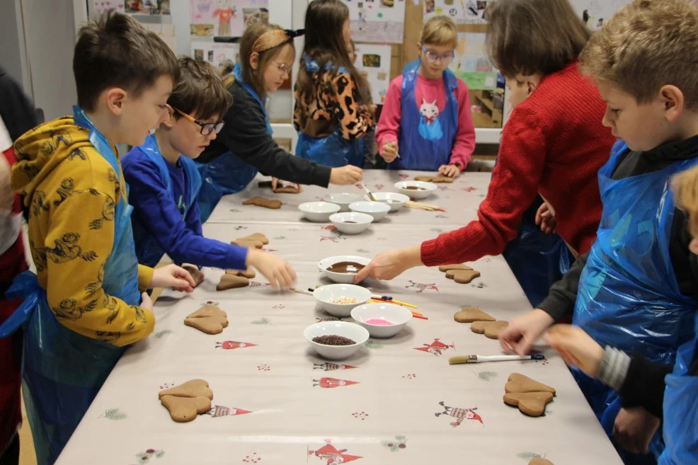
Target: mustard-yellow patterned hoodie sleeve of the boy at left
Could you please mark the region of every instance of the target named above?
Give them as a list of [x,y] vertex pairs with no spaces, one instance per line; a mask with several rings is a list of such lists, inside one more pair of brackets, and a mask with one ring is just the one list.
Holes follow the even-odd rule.
[[[146,338],[151,311],[126,304],[102,288],[112,251],[114,199],[90,189],[67,197],[51,215],[45,243],[34,247],[37,268],[47,268],[48,304],[67,328],[88,338],[124,346]],[[39,245],[39,244],[37,244]]]

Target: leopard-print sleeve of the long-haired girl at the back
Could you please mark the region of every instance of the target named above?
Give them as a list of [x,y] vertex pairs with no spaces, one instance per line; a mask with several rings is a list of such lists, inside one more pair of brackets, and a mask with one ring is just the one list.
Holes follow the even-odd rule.
[[351,74],[338,74],[332,84],[335,93],[326,98],[337,102],[335,114],[342,137],[347,140],[364,137],[373,125],[373,115],[365,105],[359,103],[359,90]]

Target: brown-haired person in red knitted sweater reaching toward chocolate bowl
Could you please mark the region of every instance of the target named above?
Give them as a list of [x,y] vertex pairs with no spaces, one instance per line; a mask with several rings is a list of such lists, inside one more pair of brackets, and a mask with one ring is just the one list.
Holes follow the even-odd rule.
[[495,1],[488,53],[512,93],[530,94],[511,113],[478,219],[421,246],[381,253],[357,275],[391,280],[419,265],[450,265],[502,253],[540,193],[557,233],[589,251],[601,218],[597,171],[615,142],[601,120],[605,103],[578,71],[590,33],[568,0]]

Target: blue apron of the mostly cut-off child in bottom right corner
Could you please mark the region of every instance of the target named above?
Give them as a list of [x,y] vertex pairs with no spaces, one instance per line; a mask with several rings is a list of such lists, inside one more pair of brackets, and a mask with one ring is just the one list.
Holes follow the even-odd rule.
[[660,465],[698,464],[698,377],[689,374],[697,347],[698,314],[694,323],[694,339],[679,348],[674,372],[665,378],[666,449],[659,457]]

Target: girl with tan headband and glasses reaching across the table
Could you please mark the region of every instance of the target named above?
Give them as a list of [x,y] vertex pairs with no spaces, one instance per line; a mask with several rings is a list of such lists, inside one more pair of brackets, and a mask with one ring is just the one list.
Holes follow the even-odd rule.
[[223,195],[247,187],[258,170],[278,179],[326,188],[330,183],[350,185],[362,179],[353,166],[330,168],[292,156],[272,137],[267,97],[290,77],[295,59],[293,39],[300,31],[258,23],[245,30],[240,40],[239,62],[225,76],[224,86],[233,97],[225,125],[198,162],[202,187],[199,195],[201,221],[205,222]]

